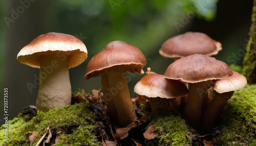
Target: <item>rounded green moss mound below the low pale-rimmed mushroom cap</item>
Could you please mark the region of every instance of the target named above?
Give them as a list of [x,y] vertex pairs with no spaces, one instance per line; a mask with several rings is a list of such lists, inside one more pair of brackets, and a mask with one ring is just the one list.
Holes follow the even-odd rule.
[[160,138],[158,145],[189,145],[191,144],[192,134],[188,132],[188,127],[184,120],[173,112],[156,112],[150,118],[148,125],[154,125],[154,132]]

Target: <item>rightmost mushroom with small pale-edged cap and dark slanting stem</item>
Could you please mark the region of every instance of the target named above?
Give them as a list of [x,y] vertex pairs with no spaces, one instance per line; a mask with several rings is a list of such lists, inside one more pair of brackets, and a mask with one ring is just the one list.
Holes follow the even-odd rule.
[[222,108],[227,104],[227,101],[231,98],[234,91],[241,90],[246,84],[246,78],[236,71],[233,71],[233,75],[230,77],[214,81],[213,88],[216,91],[216,94],[202,116],[201,129],[203,134],[212,131]]

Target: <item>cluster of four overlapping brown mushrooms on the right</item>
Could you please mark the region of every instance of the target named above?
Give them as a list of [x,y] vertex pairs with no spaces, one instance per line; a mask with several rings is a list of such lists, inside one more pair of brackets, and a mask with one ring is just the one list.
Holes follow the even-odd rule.
[[197,132],[210,133],[233,92],[247,84],[245,77],[211,57],[221,50],[220,42],[203,33],[174,36],[162,44],[159,54],[175,61],[164,75],[148,70],[134,91],[150,102],[152,112],[176,108]]

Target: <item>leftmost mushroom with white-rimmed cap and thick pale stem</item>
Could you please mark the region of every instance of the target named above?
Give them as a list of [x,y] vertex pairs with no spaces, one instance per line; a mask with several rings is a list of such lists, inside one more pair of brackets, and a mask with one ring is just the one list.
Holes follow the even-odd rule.
[[39,70],[36,107],[41,111],[71,104],[69,68],[87,59],[87,48],[78,38],[61,33],[38,36],[22,48],[17,60]]

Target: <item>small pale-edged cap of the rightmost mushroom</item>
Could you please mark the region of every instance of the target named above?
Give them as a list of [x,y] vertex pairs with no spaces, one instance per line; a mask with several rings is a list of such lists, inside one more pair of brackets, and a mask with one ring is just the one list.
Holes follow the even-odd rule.
[[233,71],[232,76],[223,78],[222,80],[216,80],[212,87],[216,92],[224,93],[241,90],[246,84],[246,78],[238,72]]

